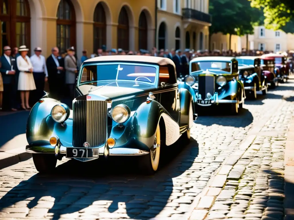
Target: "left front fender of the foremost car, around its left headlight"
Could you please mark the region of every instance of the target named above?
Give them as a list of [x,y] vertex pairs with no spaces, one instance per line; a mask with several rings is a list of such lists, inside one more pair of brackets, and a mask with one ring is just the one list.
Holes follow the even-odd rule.
[[[44,98],[31,109],[26,125],[26,139],[31,146],[50,145],[50,138],[56,136],[63,146],[72,146],[72,110],[63,125],[51,117],[51,109],[60,102]],[[52,147],[54,148],[54,147]]]

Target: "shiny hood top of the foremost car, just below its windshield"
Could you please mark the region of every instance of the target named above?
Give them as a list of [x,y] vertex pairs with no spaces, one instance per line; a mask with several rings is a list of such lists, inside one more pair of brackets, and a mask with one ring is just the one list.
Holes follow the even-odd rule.
[[78,87],[82,95],[103,96],[117,99],[132,95],[153,92],[156,87],[140,82],[100,82],[84,84]]

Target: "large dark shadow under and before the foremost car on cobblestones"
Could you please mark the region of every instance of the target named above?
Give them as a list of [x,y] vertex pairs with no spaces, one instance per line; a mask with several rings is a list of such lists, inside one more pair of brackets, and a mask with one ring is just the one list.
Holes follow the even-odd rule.
[[[47,207],[51,208],[48,213],[54,215],[53,219],[59,219],[62,214],[78,218],[84,211],[103,219],[153,218],[170,202],[172,178],[182,175],[197,158],[198,143],[191,138],[190,144],[184,147],[177,141],[162,153],[165,153],[164,166],[152,176],[144,176],[137,169],[140,156],[113,156],[87,163],[70,160],[59,165],[54,175],[36,174],[20,182],[0,200],[0,211],[29,198],[27,207],[38,208],[42,205],[40,199],[50,201],[53,197],[53,207]],[[184,177],[183,184],[186,184]]]

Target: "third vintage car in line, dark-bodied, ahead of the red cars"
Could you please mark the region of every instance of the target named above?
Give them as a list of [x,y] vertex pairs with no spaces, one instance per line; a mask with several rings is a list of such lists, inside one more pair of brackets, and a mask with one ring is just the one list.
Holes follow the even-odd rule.
[[256,91],[266,95],[268,91],[267,77],[260,68],[260,58],[251,56],[236,57],[238,60],[239,79],[244,84],[246,97],[256,99]]

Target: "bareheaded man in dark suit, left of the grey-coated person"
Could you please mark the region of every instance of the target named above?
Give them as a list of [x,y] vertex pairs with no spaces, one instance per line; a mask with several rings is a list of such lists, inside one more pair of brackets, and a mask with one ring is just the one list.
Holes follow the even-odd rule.
[[60,97],[60,89],[64,86],[62,83],[64,67],[60,63],[59,49],[54,47],[51,52],[52,54],[46,60],[49,90],[51,97],[58,99]]

